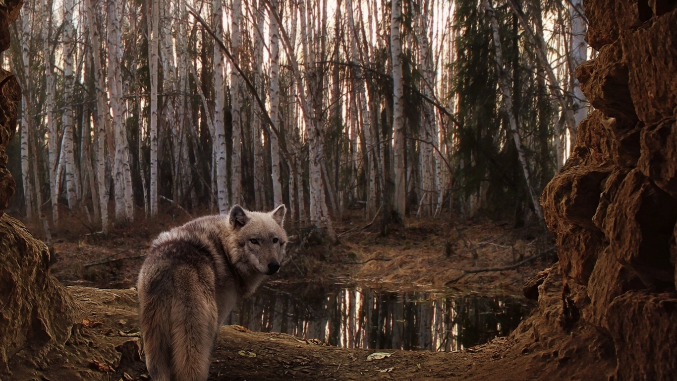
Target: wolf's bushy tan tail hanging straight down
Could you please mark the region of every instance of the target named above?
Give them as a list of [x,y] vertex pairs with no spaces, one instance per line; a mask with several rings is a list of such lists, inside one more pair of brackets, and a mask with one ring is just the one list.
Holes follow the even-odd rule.
[[213,279],[204,278],[204,274],[198,275],[194,269],[174,271],[175,290],[169,319],[173,380],[176,381],[204,381],[209,375],[219,322]]

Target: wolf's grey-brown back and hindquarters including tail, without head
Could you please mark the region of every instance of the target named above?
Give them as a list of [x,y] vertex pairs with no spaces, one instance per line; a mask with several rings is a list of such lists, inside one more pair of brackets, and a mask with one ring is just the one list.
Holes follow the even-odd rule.
[[138,289],[152,379],[206,380],[219,328],[209,249],[180,238],[154,245],[141,268]]

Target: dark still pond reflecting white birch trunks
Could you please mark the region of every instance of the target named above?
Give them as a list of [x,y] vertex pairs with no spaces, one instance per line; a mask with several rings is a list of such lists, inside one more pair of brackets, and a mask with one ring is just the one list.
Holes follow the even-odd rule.
[[349,348],[458,350],[508,335],[530,309],[508,297],[303,284],[259,287],[226,323]]

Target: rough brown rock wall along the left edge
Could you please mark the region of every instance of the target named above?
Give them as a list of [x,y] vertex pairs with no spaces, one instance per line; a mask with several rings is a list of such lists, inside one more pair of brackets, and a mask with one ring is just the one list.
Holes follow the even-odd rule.
[[[9,24],[21,0],[0,2],[0,51],[9,47]],[[5,148],[16,129],[18,81],[0,69],[0,378],[12,374],[8,363],[18,353],[36,367],[53,348],[63,348],[77,320],[76,304],[49,274],[49,250],[24,225],[4,215],[16,184],[7,170]]]

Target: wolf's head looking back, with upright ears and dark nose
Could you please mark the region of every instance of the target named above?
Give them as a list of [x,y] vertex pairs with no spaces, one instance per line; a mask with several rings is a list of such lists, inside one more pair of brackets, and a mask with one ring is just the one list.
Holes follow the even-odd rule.
[[280,270],[287,243],[283,227],[286,212],[284,205],[272,212],[250,212],[240,205],[230,209],[230,237],[240,252],[238,262],[267,275]]

